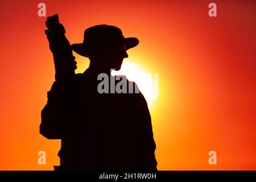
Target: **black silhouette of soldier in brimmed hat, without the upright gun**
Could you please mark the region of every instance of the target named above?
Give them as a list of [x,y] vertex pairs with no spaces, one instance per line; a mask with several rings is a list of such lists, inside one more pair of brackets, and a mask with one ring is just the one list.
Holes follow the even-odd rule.
[[72,78],[72,92],[67,82],[53,82],[40,124],[44,137],[61,139],[55,170],[157,170],[151,116],[142,93],[110,93],[110,83],[108,93],[97,89],[98,75],[106,73],[110,80],[110,69],[118,71],[127,49],[138,43],[124,38],[119,28],[102,24],[86,29],[84,42],[72,45],[89,58],[89,68]]

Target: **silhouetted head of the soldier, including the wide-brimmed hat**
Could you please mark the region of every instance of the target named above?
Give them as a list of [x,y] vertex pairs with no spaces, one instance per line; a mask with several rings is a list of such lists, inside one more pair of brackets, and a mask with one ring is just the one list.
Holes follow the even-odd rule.
[[127,55],[127,49],[137,46],[137,38],[125,38],[115,26],[101,24],[84,31],[84,41],[72,44],[72,49],[81,56],[89,57],[90,65],[119,70]]

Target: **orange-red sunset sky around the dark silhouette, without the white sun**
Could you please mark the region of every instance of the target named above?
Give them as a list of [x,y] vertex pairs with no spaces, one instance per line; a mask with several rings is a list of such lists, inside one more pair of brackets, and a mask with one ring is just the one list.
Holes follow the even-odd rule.
[[[59,140],[39,134],[40,111],[54,81],[54,65],[38,17],[59,14],[71,43],[84,30],[112,24],[140,40],[127,51],[159,73],[159,98],[150,108],[160,170],[256,169],[256,2],[1,1],[0,169],[52,170]],[[77,72],[89,60],[76,55]],[[47,164],[37,163],[46,151]],[[217,165],[208,152],[217,152]]]

